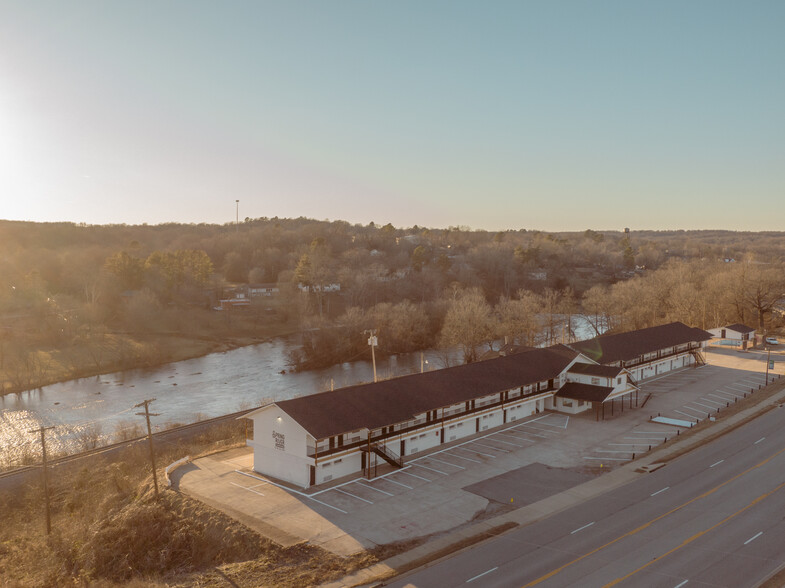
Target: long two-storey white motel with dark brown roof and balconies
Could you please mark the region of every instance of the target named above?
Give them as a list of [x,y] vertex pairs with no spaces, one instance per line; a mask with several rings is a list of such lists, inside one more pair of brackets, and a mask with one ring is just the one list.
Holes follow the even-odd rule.
[[[253,421],[254,470],[302,488],[503,427],[546,410],[605,418],[638,382],[703,362],[711,335],[671,323],[282,400]],[[648,342],[647,342],[648,341]],[[626,349],[626,351],[625,351]]]

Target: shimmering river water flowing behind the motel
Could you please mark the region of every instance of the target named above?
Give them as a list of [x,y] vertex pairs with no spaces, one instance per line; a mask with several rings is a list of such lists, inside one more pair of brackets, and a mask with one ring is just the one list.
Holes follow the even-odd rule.
[[[576,335],[591,336],[579,323]],[[47,432],[52,453],[74,452],[143,431],[144,418],[134,405],[155,398],[151,412],[155,429],[191,423],[267,400],[284,400],[361,382],[373,381],[368,358],[320,370],[290,372],[288,351],[294,339],[281,338],[213,353],[161,367],[129,370],[70,380],[21,394],[0,396],[0,466],[21,465],[38,459],[40,437],[31,430],[54,426]],[[460,363],[458,350],[425,351],[424,368],[440,369]],[[390,356],[377,361],[380,379],[416,373],[421,354]],[[285,373],[284,373],[285,372]]]

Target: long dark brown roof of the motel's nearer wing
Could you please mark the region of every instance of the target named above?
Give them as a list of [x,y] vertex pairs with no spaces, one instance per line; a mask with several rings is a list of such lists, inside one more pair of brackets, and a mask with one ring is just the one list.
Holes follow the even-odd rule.
[[429,410],[556,378],[577,356],[576,351],[555,345],[276,404],[308,433],[324,439],[378,429]]

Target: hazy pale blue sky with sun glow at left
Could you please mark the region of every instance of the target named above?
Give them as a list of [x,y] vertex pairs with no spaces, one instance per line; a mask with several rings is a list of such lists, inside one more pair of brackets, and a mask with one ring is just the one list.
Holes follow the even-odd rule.
[[785,2],[0,0],[0,218],[785,230]]

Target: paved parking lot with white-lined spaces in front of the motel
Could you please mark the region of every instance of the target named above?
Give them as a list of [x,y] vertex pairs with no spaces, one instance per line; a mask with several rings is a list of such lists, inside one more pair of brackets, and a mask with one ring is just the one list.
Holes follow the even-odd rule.
[[650,422],[651,417],[709,418],[763,384],[765,375],[752,369],[759,363],[667,374],[642,385],[642,406],[627,405],[612,417],[606,413],[604,421],[596,421],[593,411],[532,416],[412,456],[403,468],[373,479],[356,475],[312,491],[296,490],[253,472],[247,448],[196,460],[174,479],[186,493],[279,543],[307,540],[347,555],[514,508],[529,502],[527,487],[537,489],[539,497],[542,489],[556,493],[618,467],[681,429]]

